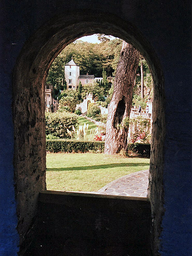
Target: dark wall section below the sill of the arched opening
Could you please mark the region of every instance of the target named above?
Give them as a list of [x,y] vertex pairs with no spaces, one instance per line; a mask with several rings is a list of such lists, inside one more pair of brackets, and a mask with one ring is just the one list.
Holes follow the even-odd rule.
[[150,225],[146,198],[44,191],[24,255],[150,256]]

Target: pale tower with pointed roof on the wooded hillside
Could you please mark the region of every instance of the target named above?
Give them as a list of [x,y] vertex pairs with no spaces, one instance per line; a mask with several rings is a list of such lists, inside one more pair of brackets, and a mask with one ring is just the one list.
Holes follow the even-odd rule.
[[73,58],[65,65],[65,81],[67,89],[75,90],[78,88],[79,66]]

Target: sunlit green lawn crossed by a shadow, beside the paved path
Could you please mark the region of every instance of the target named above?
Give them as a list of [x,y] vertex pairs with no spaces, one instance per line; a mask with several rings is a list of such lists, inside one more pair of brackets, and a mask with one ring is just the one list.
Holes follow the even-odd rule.
[[98,191],[109,182],[149,168],[149,159],[95,153],[47,153],[47,189]]

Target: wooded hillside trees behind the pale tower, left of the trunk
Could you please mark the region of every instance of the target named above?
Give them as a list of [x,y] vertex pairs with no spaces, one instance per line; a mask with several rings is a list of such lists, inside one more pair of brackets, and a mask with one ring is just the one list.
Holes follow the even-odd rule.
[[86,75],[87,72],[95,77],[104,75],[104,85],[106,87],[105,76],[112,76],[115,73],[121,45],[121,39],[104,40],[100,44],[78,40],[67,45],[54,59],[47,76],[47,83],[53,84],[54,98],[56,99],[59,95],[59,90],[66,89],[64,65],[70,62],[72,57],[80,67],[81,75]]

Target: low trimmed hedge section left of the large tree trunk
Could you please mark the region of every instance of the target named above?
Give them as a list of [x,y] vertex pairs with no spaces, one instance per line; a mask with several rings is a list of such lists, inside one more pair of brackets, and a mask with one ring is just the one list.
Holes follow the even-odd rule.
[[46,140],[46,150],[52,153],[104,152],[104,141]]

